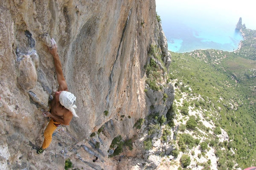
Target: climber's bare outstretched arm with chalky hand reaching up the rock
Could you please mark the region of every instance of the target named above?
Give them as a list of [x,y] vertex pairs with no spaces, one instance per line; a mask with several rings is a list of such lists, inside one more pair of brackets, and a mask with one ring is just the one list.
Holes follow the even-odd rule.
[[67,82],[66,82],[63,72],[62,72],[61,60],[58,55],[58,47],[53,38],[51,40],[51,43],[52,43],[52,47],[49,48],[49,52],[52,54],[53,59],[54,59],[54,65],[55,65],[57,80],[58,80],[58,84],[59,84],[58,91],[67,91]]

